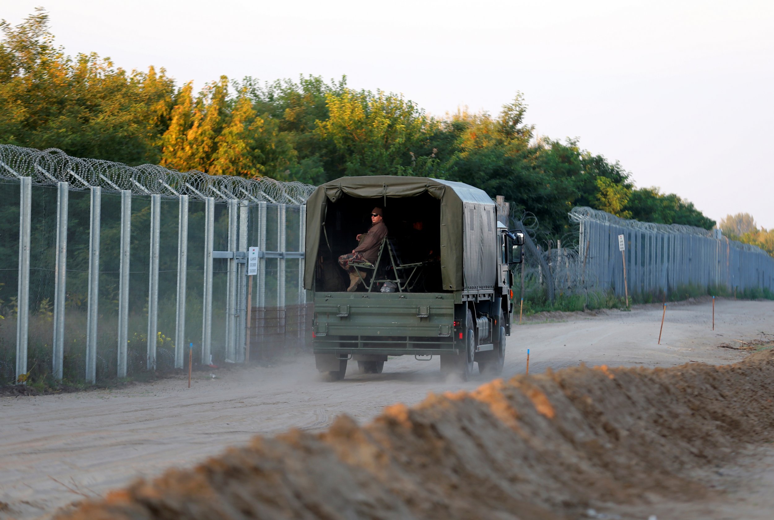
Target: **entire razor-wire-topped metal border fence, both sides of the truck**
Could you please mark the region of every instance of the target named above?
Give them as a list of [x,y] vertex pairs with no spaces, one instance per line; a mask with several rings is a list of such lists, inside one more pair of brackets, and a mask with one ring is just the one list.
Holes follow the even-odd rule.
[[[0,384],[183,368],[188,347],[212,364],[303,344],[313,190],[0,145]],[[508,214],[502,197],[497,203]],[[632,296],[686,286],[774,290],[774,258],[719,230],[587,207],[569,217],[577,234],[564,245],[539,244],[529,237],[536,221],[515,221],[528,232],[522,294],[527,283],[550,301],[624,296],[624,262]]]

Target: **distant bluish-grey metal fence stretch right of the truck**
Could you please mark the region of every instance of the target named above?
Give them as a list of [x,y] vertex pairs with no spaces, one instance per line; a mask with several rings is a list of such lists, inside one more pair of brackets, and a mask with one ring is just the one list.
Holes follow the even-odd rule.
[[[729,240],[719,229],[630,221],[590,207],[575,207],[569,217],[578,225],[577,234],[565,237],[564,245],[526,244],[522,279],[545,291],[547,300],[582,294],[594,303],[627,292],[645,299],[687,288],[774,292],[774,258],[754,245]],[[624,238],[623,255],[618,235]]]

